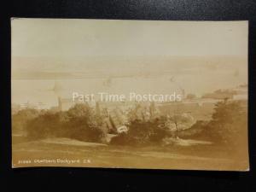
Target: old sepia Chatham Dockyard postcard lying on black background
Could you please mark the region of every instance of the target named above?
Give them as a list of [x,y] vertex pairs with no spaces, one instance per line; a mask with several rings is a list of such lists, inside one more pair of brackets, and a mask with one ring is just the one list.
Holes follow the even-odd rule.
[[11,19],[12,166],[248,171],[247,21]]

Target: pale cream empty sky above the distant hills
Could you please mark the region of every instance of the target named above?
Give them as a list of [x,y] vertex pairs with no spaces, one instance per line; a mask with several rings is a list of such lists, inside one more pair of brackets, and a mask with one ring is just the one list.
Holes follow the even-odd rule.
[[247,55],[247,21],[13,19],[12,56]]

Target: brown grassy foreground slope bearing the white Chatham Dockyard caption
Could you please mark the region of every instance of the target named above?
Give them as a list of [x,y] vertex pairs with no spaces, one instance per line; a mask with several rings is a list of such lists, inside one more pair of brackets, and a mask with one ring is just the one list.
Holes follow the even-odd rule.
[[[240,170],[246,160],[212,144],[131,148],[50,138],[13,144],[13,167],[82,166],[154,169]],[[241,158],[242,159],[242,158]],[[243,158],[244,159],[244,158]]]

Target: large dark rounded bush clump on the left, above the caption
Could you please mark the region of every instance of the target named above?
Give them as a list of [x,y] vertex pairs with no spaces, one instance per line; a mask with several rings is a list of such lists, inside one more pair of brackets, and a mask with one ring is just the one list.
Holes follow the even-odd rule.
[[77,104],[67,112],[50,111],[38,115],[26,124],[28,137],[68,137],[86,142],[102,142],[105,132],[100,128],[102,120],[89,106]]

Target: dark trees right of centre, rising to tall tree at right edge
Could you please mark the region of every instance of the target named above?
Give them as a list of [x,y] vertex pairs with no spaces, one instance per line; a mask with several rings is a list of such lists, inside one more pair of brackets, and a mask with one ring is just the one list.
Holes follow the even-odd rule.
[[[180,115],[160,117],[148,121],[131,121],[127,133],[113,137],[112,144],[148,145],[165,144],[166,138],[183,138],[210,141],[230,147],[247,143],[247,105],[242,102],[217,102],[209,121],[198,120],[189,129],[178,129],[177,124],[185,123]],[[169,123],[174,123],[176,131],[170,131]]]

